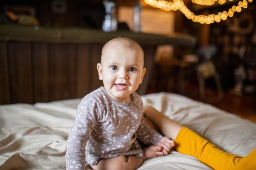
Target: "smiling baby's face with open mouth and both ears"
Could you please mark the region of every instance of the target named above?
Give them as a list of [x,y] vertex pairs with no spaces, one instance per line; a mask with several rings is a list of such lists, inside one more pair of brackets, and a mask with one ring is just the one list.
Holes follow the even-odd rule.
[[138,46],[112,42],[97,65],[99,79],[114,100],[131,102],[130,95],[138,89],[146,72],[143,64],[143,51]]

